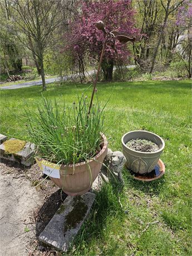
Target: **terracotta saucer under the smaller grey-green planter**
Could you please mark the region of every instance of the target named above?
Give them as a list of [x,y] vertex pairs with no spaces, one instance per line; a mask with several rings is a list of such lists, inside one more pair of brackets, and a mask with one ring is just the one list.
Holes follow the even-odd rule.
[[141,180],[141,181],[152,181],[152,180],[157,180],[161,178],[165,173],[165,165],[163,161],[159,159],[157,162],[155,169],[152,170],[150,173],[147,174],[139,174],[139,173],[134,173],[133,171],[130,171],[130,174],[132,175],[132,178],[135,180]]

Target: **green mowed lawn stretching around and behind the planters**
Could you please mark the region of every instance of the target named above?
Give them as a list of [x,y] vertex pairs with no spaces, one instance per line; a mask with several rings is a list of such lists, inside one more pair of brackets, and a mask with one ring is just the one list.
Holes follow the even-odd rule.
[[[87,87],[53,83],[43,95],[72,105]],[[68,254],[191,255],[190,87],[190,81],[99,83],[102,105],[111,95],[104,131],[109,147],[122,151],[121,137],[131,130],[155,132],[165,140],[166,170],[151,183],[133,180],[124,170],[124,188],[105,185]],[[23,112],[23,99],[34,108],[41,91],[41,86],[1,91],[2,134],[25,138],[16,116]]]

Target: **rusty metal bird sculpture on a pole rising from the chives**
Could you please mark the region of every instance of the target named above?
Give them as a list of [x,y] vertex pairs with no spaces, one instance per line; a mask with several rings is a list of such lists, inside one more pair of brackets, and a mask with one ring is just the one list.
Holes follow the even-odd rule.
[[104,57],[104,52],[105,52],[105,47],[106,47],[107,40],[109,40],[110,43],[112,43],[112,46],[113,46],[115,51],[116,51],[115,40],[118,40],[121,43],[127,43],[128,41],[135,42],[135,37],[130,38],[124,32],[119,32],[119,31],[108,32],[106,30],[105,26],[104,26],[104,22],[102,22],[102,21],[97,21],[93,24],[95,24],[97,29],[101,30],[104,33],[105,39],[104,39],[104,43],[103,43],[103,46],[102,46],[102,51],[101,51],[99,65],[98,65],[98,68],[97,68],[96,78],[95,78],[95,81],[93,82],[93,90],[92,90],[91,101],[90,101],[90,106],[89,106],[87,115],[90,115],[90,111],[91,111],[91,107],[92,107],[92,101],[93,101],[93,97],[94,97],[94,94],[95,94],[95,91],[96,91],[96,84],[97,84],[97,80],[98,80],[98,77],[99,77],[99,72],[100,72],[100,68],[101,68],[102,59]]

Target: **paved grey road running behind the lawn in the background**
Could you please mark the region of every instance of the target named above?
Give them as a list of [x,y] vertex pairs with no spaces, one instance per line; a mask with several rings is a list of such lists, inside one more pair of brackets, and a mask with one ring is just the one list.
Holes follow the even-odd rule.
[[[132,67],[135,67],[135,65],[127,66],[127,68],[132,68]],[[114,70],[115,70],[115,68],[114,68]],[[87,74],[88,75],[92,75],[93,72],[94,72],[94,70],[91,70],[91,71],[88,71]],[[67,80],[71,76],[72,75],[65,76],[65,77],[62,78],[62,80]],[[46,78],[45,81],[46,81],[46,84],[47,84],[47,83],[52,83],[52,82],[55,82],[55,81],[60,81],[60,78],[59,77]],[[3,86],[0,89],[1,90],[12,90],[12,89],[19,89],[19,88],[24,88],[24,87],[30,87],[30,86],[33,86],[33,85],[42,85],[42,80],[26,82],[26,83],[17,83],[16,85],[13,84],[13,85],[8,85],[8,86]]]

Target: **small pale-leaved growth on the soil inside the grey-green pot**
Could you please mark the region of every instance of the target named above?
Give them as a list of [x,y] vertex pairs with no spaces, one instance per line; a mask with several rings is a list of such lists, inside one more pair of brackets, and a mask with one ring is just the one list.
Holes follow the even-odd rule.
[[141,139],[130,140],[126,143],[126,146],[140,152],[155,152],[159,150],[159,146],[156,143]]

